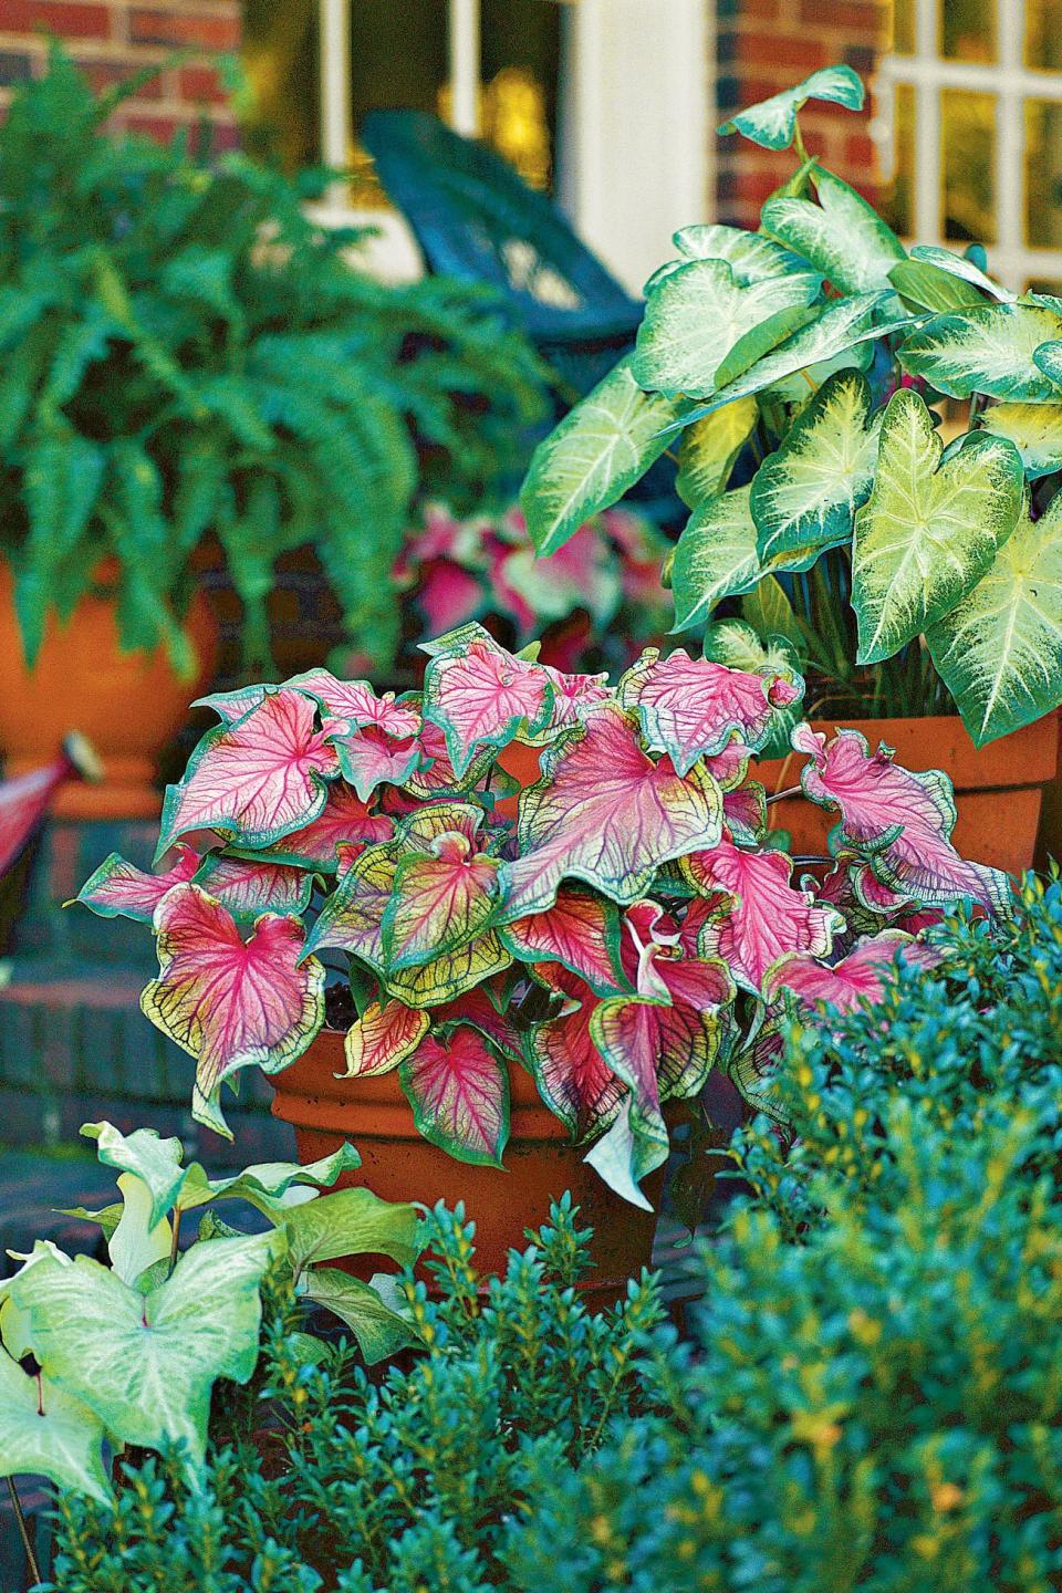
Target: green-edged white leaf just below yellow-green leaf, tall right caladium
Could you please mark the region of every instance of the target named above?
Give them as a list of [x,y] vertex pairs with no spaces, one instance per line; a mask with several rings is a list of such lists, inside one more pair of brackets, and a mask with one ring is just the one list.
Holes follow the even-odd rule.
[[763,569],[750,487],[712,499],[693,515],[678,538],[672,564],[675,629],[704,624],[724,597],[752,591]]

